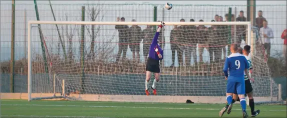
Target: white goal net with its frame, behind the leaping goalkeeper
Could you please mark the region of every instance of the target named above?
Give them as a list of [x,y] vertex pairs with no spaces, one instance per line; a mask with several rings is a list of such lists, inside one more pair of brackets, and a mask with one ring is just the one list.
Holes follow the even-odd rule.
[[[158,94],[147,96],[145,63],[158,24],[29,21],[29,100],[225,102],[228,47],[253,44],[250,22],[166,22],[158,38],[164,50]],[[245,32],[237,41],[234,26]],[[267,63],[249,56],[256,101],[277,101]]]

